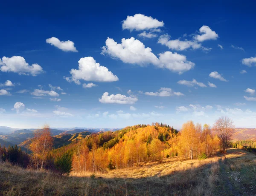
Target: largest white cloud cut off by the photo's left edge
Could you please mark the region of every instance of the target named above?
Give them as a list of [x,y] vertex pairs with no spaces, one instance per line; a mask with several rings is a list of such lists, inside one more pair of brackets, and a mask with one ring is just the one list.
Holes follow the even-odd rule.
[[20,56],[13,56],[11,58],[3,57],[2,60],[0,59],[0,71],[3,72],[14,72],[23,75],[36,76],[38,74],[43,73],[43,68],[34,63],[29,65],[23,57]]

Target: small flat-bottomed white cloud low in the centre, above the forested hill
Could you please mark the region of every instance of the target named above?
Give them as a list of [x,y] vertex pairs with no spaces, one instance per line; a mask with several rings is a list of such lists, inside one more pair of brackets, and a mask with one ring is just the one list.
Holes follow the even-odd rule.
[[118,104],[134,104],[137,102],[137,97],[126,97],[121,94],[111,94],[108,96],[108,92],[103,93],[102,98],[99,99],[99,102],[102,103],[118,103]]

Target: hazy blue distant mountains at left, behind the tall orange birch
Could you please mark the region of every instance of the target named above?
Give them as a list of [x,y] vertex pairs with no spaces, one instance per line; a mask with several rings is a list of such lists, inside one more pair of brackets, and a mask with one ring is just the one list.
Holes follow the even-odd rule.
[[[30,128],[30,129],[17,129],[10,127],[0,126],[0,145],[8,147],[9,145],[14,146],[15,144],[26,148],[29,144],[29,140],[34,136],[35,131],[38,129]],[[85,128],[85,127],[73,127],[73,128],[50,128],[52,136],[55,137],[54,144],[55,147],[67,145],[70,142],[74,141],[74,139],[83,139],[84,136],[99,133],[104,131],[116,131],[119,128]],[[84,133],[80,134],[79,133]],[[74,135],[75,134],[75,135]],[[77,135],[76,135],[77,134]],[[66,138],[64,136],[66,136]],[[70,138],[69,138],[70,137]],[[73,137],[73,139],[71,139]],[[71,139],[71,140],[70,140]]]

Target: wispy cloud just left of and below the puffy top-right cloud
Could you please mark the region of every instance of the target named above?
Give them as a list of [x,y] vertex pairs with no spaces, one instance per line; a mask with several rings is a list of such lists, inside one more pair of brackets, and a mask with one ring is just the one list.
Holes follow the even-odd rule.
[[183,51],[186,50],[187,48],[193,48],[193,49],[198,49],[201,48],[202,45],[200,43],[197,43],[195,40],[189,41],[189,40],[170,40],[170,36],[168,34],[161,35],[158,39],[157,43],[160,43],[162,45],[166,45],[169,49],[172,50],[178,50],[178,51]]

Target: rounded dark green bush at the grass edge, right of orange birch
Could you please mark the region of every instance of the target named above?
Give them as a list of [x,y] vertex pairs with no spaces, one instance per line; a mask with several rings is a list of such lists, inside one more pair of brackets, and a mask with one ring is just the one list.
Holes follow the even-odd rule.
[[72,156],[69,153],[65,153],[61,157],[57,157],[54,165],[61,175],[68,176],[72,170]]

